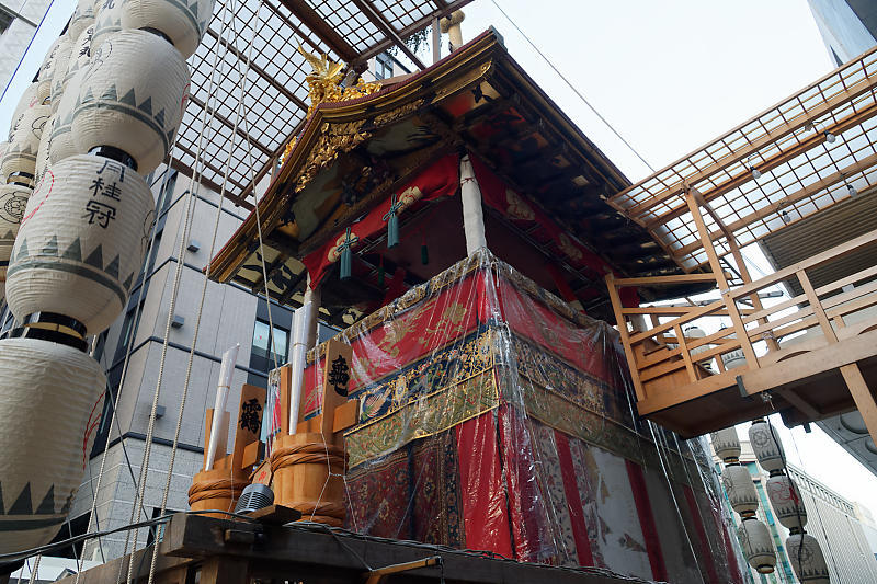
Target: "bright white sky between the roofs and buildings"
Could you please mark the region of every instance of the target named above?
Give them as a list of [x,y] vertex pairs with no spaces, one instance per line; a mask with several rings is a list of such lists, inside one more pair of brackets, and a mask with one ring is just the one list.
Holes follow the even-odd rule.
[[[501,5],[656,169],[832,68],[805,0],[502,0]],[[73,0],[55,0],[23,75],[0,102],[0,127],[8,127],[21,92],[73,8]],[[476,0],[465,12],[464,39],[493,25],[514,58],[631,181],[650,174],[491,0]],[[816,426],[805,434],[786,430],[778,417],[773,422],[790,461],[877,512],[877,478]]]

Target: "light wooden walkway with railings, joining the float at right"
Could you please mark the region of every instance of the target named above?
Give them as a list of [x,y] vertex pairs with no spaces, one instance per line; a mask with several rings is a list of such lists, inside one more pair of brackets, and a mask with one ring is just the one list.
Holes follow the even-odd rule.
[[[733,288],[714,259],[721,299],[706,306],[624,307],[618,290],[642,278],[607,276],[639,414],[692,437],[774,412],[791,426],[858,409],[875,436],[877,266],[818,288],[807,274],[875,241],[872,231],[754,282],[744,273]],[[668,283],[685,277],[703,275]],[[804,294],[763,307],[759,293],[788,279]],[[688,336],[686,329],[709,318],[731,327]],[[726,370],[722,357],[739,366]]]

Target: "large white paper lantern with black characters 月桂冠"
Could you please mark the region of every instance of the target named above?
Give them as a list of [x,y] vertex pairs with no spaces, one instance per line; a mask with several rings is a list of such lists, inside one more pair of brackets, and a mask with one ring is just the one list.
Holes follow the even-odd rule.
[[7,275],[19,319],[57,312],[98,334],[116,319],[143,263],[155,219],[143,176],[75,156],[54,164],[27,202]]

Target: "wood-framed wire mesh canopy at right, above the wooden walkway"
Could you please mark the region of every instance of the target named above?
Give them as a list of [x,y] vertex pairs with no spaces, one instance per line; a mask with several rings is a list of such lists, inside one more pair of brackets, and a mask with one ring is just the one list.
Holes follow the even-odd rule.
[[872,49],[610,203],[694,268],[707,257],[686,187],[711,207],[707,228],[728,253],[722,227],[745,245],[875,184],[875,87]]

